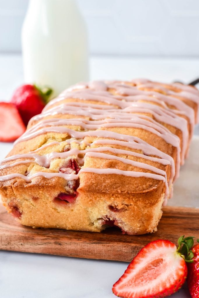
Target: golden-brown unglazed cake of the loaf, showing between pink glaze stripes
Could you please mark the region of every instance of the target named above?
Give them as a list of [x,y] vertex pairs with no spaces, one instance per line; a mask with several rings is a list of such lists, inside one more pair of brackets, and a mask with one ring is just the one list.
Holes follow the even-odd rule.
[[[127,84],[136,86],[135,83]],[[153,90],[155,92],[163,93],[157,86],[154,88],[142,88],[139,84],[137,85],[139,90]],[[160,86],[176,92],[173,96],[193,108],[195,115],[197,114],[198,105],[192,100],[179,96],[178,93],[181,90],[180,87],[177,88],[168,84],[161,84]],[[110,94],[118,94],[118,92],[113,88],[109,88],[108,91]],[[167,94],[167,96],[170,95]],[[144,100],[139,101],[145,102]],[[61,101],[62,104],[69,102],[84,103],[88,106],[91,104],[110,105],[96,100],[82,100],[81,98],[74,99],[70,97],[64,98]],[[147,103],[152,103],[158,106],[158,103],[154,103],[153,101],[147,101]],[[60,102],[54,103],[50,106],[50,108],[53,108],[58,104],[60,104]],[[167,106],[169,108],[176,109],[174,106]],[[120,110],[116,105],[111,105],[111,108],[118,108],[118,110]],[[150,117],[152,120],[155,120],[157,123],[166,127],[172,132],[172,134],[178,136],[180,139],[180,146],[182,148],[183,132],[181,129],[158,120],[153,114],[146,112],[139,114]],[[187,120],[189,132],[189,140],[187,144],[188,149],[189,141],[191,139],[191,124],[186,115],[179,115]],[[53,118],[82,118],[91,120],[89,116],[59,113],[56,115],[48,115],[42,120]],[[37,123],[40,123],[40,121],[41,119],[30,122],[28,129],[32,128]],[[150,120],[148,121],[150,122]],[[74,131],[87,131],[87,129],[83,129],[79,125],[62,126]],[[166,142],[161,136],[158,136],[150,131],[146,131],[143,128],[113,126],[108,128],[101,127],[98,128],[98,130],[112,131],[122,135],[138,137],[169,156],[172,156],[175,164],[177,163],[177,148]],[[140,153],[143,157],[133,156],[131,154],[128,155],[127,152],[125,152],[125,154],[116,154],[104,150],[103,153],[107,153],[109,155],[112,154],[130,161],[141,162],[156,167],[166,172],[167,181],[169,181],[171,166],[169,164],[163,165],[160,162],[147,160],[144,156],[143,150],[141,149],[132,149],[124,146],[124,144],[110,145],[93,143],[98,139],[103,139],[103,137],[85,136],[83,139],[79,139],[79,141],[82,141],[81,144],[71,142],[70,145],[67,144],[67,139],[70,139],[70,135],[67,133],[43,133],[32,139],[19,142],[14,146],[13,150],[10,151],[8,156],[29,153],[30,151],[38,148],[40,148],[40,150],[37,154],[45,156],[52,152],[63,153],[67,151],[69,147],[70,149],[78,148],[79,150],[87,148],[111,147],[129,152]],[[45,147],[45,145],[50,144],[51,142],[58,143]],[[88,144],[90,145],[88,146]],[[42,148],[42,146],[44,147]],[[155,154],[149,156],[158,157]],[[26,164],[18,164],[13,167],[1,169],[0,175],[4,176],[12,173],[20,173],[25,176],[32,176],[38,172],[58,173],[60,169],[64,167],[64,164],[71,159],[76,159],[76,157],[77,156],[75,155],[71,155],[64,159],[54,158],[51,160],[49,168],[36,164],[33,160],[32,162],[30,161]],[[6,164],[23,161],[24,159],[25,158],[18,158],[15,161],[9,161]],[[142,167],[124,163],[120,160],[96,157],[85,158],[84,167],[95,169],[112,168],[123,171],[155,173]],[[153,232],[157,229],[158,221],[161,218],[161,206],[166,190],[163,180],[146,177],[128,177],[116,174],[81,173],[78,181],[79,185],[74,183],[71,184],[70,181],[68,182],[59,177],[46,179],[43,176],[38,176],[32,179],[30,183],[27,183],[24,179],[15,177],[13,179],[0,182],[0,194],[8,212],[12,212],[21,224],[27,226],[100,232],[102,229],[107,227],[107,223],[110,224],[111,222],[111,224],[119,226],[124,232],[129,234],[144,234],[147,232]],[[170,187],[172,187],[172,185],[170,185]],[[77,193],[77,196],[73,203],[67,203],[59,199],[55,200],[60,193],[74,194],[74,192]]]

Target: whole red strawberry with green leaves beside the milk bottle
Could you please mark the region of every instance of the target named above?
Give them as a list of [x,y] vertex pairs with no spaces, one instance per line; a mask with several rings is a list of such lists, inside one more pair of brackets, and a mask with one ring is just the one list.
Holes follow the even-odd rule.
[[25,125],[30,118],[41,113],[51,93],[52,89],[41,90],[36,85],[23,85],[16,89],[11,102],[16,105]]

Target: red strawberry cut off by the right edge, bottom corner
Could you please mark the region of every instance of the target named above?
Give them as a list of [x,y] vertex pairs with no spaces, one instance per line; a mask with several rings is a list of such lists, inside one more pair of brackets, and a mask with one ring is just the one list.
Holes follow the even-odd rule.
[[[199,242],[199,239],[197,240]],[[193,263],[188,264],[187,284],[192,298],[199,297],[199,243],[192,247]]]

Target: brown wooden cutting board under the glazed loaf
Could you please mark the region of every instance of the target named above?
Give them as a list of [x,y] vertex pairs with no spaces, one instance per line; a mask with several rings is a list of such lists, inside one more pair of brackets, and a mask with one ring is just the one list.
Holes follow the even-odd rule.
[[33,229],[18,224],[0,204],[1,250],[129,262],[150,241],[177,243],[181,235],[199,238],[199,209],[164,207],[157,232],[132,236],[116,228],[102,233]]

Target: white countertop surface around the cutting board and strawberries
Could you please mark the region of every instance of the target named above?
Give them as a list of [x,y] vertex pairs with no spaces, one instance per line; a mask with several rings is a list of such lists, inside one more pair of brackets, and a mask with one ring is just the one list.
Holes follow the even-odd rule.
[[[189,82],[198,77],[199,59],[92,57],[90,66],[92,80],[149,77],[166,82]],[[8,100],[14,88],[22,82],[21,56],[0,55],[0,100]],[[11,148],[12,144],[0,143],[0,159]],[[115,297],[112,285],[127,265],[124,262],[0,251],[0,297]],[[171,297],[190,297],[186,285]]]

